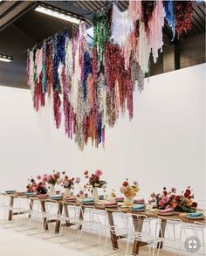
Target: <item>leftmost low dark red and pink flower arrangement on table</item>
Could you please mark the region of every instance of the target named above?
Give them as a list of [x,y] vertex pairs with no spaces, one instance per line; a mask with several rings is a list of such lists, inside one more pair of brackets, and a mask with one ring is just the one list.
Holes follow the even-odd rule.
[[36,192],[38,194],[46,194],[47,189],[45,186],[45,178],[42,176],[37,176],[38,182],[35,181],[33,177],[31,179],[28,179],[29,183],[26,186],[27,192]]

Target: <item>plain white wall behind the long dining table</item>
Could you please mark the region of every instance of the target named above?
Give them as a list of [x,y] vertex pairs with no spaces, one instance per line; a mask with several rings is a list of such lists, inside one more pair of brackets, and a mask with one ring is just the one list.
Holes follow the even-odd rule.
[[[79,151],[44,113],[35,114],[29,90],[0,86],[0,190],[24,190],[27,178],[55,170],[82,176],[101,169],[108,188],[126,177],[148,198],[163,186],[205,193],[205,65],[163,73],[135,93],[134,119],[106,128],[106,147]],[[1,84],[1,80],[0,80]]]

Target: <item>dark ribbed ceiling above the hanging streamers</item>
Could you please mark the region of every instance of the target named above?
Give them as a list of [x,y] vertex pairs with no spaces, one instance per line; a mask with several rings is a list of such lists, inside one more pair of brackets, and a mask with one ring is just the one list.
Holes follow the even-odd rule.
[[[86,25],[89,27],[93,24],[93,13],[103,12],[106,9],[106,4],[112,3],[112,1],[2,1],[0,2],[0,31],[10,24],[15,24],[17,28],[38,43],[44,38],[62,31],[65,27],[71,36],[73,31],[78,29],[75,24],[35,11],[38,3],[50,4],[53,7],[78,14],[84,17]],[[128,7],[128,1],[118,1],[117,4],[120,10],[126,10]],[[192,29],[183,34],[182,38],[205,31],[205,3],[193,1],[193,10]],[[171,44],[171,38],[172,31],[165,23],[163,28],[164,45]]]

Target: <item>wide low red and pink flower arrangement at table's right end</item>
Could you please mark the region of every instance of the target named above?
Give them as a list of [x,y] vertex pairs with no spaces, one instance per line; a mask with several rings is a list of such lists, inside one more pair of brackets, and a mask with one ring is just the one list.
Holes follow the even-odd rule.
[[167,190],[166,187],[163,188],[161,193],[155,194],[154,192],[148,200],[149,204],[154,204],[154,208],[160,210],[172,208],[174,211],[180,212],[194,212],[196,211],[196,202],[194,202],[194,193],[190,187],[182,191],[181,195],[176,195],[175,188]]

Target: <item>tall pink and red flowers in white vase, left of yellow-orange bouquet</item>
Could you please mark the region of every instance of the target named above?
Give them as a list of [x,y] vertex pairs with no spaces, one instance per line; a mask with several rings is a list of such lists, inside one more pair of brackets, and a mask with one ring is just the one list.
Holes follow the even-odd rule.
[[101,180],[100,176],[102,176],[102,170],[96,170],[91,176],[89,176],[88,170],[85,170],[84,175],[86,179],[88,179],[88,183],[86,183],[85,188],[92,191],[93,201],[99,201],[98,188],[106,188],[106,181]]

